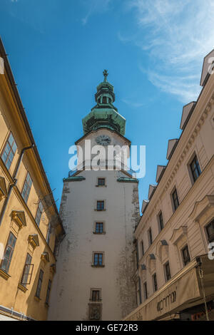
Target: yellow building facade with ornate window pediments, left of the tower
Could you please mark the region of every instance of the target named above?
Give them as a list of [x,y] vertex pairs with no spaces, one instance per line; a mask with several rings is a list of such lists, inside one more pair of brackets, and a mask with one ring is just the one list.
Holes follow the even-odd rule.
[[46,320],[63,227],[1,40],[0,57],[0,320]]

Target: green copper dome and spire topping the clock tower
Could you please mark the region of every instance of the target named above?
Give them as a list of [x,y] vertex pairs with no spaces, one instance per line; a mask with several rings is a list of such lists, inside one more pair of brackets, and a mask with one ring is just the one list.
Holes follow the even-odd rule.
[[97,104],[91,109],[91,113],[82,120],[84,134],[105,127],[125,135],[126,119],[118,113],[117,108],[113,105],[115,94],[113,86],[107,81],[108,72],[106,70],[103,71],[103,76],[104,81],[97,86],[95,95]]

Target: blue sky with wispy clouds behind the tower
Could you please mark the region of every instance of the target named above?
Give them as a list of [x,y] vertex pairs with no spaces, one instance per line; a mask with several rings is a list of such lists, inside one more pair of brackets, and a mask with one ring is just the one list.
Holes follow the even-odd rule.
[[146,145],[140,206],[213,49],[213,0],[0,0],[0,34],[58,207],[68,148],[108,69],[126,137]]

